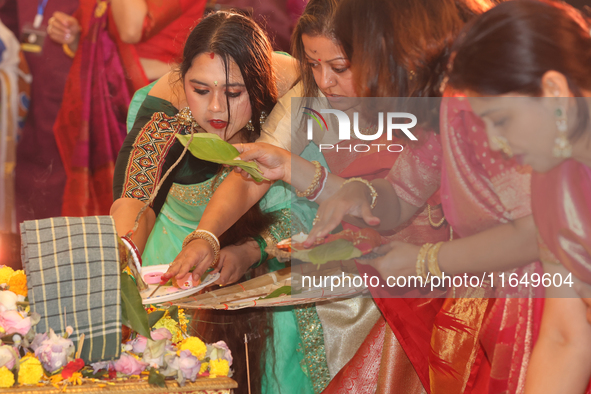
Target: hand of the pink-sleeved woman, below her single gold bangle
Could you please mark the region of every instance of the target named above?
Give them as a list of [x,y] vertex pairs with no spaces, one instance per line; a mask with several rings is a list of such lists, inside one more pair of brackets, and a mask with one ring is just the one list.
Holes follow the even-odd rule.
[[371,211],[371,195],[362,182],[349,182],[318,207],[314,227],[304,242],[309,248],[317,238],[324,238],[349,215],[359,218],[368,226],[377,226],[380,219]]

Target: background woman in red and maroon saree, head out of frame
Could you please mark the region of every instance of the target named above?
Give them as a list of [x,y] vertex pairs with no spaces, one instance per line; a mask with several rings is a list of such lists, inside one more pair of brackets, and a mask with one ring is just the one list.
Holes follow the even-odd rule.
[[[121,40],[118,31],[124,26],[118,20],[122,11],[116,17],[111,9],[124,6],[119,3],[81,1],[75,18],[54,14],[48,27],[50,36],[64,44],[64,51],[71,53],[68,44],[74,43],[76,52],[71,53],[74,63],[54,125],[67,177],[62,215],[108,214],[131,96],[149,83],[147,74],[158,77],[146,65],[166,65],[178,57],[205,6],[205,1],[191,0],[142,2],[144,14],[138,12],[145,15],[142,42],[131,45]],[[123,31],[127,41],[133,41]],[[169,42],[171,38],[176,41]]]

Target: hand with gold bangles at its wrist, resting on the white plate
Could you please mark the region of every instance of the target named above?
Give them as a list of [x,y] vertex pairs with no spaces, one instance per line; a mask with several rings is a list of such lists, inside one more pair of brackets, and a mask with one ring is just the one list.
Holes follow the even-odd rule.
[[181,252],[168,267],[168,271],[162,275],[161,283],[166,283],[173,277],[180,280],[195,267],[193,270],[193,286],[197,286],[201,275],[213,263],[213,258],[214,252],[209,242],[204,239],[194,239],[181,249]]

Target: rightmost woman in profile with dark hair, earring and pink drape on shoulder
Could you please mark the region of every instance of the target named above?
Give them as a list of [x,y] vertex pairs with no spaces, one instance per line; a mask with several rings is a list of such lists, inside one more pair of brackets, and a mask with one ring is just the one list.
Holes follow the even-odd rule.
[[568,282],[574,275],[591,283],[590,28],[564,4],[503,4],[458,41],[449,77],[471,96],[491,145],[532,166],[544,270],[564,281],[547,289],[563,298],[546,299],[526,380],[531,393],[589,392],[591,325]]

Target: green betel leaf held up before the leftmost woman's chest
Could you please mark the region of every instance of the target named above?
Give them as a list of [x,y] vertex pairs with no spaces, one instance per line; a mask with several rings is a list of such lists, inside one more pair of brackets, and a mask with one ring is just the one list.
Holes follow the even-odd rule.
[[[190,135],[177,134],[176,138],[187,146]],[[259,167],[252,161],[234,160],[240,152],[232,144],[221,139],[217,134],[198,133],[193,134],[193,141],[189,145],[189,152],[198,159],[211,161],[218,164],[227,164],[229,166],[240,167],[252,176],[257,182],[268,179],[263,177]]]

